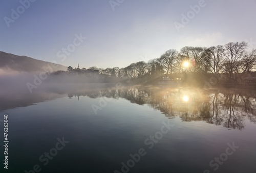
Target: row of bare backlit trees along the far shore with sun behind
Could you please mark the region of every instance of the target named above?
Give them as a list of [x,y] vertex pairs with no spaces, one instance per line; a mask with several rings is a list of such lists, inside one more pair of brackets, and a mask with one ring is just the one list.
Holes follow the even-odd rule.
[[[228,42],[224,46],[170,49],[160,57],[148,62],[131,63],[125,68],[75,68],[68,67],[69,74],[81,74],[86,77],[98,77],[108,81],[113,78],[130,80],[154,79],[164,74],[172,75],[183,72],[203,72],[215,75],[225,74],[227,81],[237,81],[245,72],[256,67],[256,50],[248,50],[247,42]],[[54,72],[59,74],[63,72]]]

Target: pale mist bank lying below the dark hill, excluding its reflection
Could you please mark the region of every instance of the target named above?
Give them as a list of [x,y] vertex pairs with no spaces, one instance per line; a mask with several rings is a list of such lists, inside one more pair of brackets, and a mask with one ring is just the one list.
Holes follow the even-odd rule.
[[44,73],[12,73],[0,75],[0,94],[32,94],[39,92],[66,93],[79,89],[113,87],[117,82],[103,83],[97,78],[75,75],[50,75]]

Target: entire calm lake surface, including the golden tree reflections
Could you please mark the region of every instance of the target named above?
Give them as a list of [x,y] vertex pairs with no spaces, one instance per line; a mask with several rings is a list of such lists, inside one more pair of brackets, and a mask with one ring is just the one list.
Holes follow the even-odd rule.
[[5,98],[6,172],[256,172],[255,95],[129,88]]

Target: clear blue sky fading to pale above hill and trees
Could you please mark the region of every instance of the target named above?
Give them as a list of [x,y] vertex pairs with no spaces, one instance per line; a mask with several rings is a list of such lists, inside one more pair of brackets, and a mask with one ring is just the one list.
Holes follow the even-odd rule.
[[255,9],[256,0],[0,0],[0,51],[124,68],[185,46],[247,41],[253,49]]

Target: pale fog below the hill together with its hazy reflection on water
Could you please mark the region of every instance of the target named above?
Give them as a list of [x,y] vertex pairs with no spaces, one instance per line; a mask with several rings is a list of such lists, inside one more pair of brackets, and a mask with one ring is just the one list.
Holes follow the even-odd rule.
[[92,80],[75,75],[44,76],[40,73],[2,71],[0,73],[0,111],[65,97],[74,91],[90,92],[115,85],[99,82],[97,78]]

